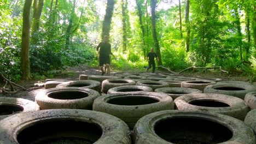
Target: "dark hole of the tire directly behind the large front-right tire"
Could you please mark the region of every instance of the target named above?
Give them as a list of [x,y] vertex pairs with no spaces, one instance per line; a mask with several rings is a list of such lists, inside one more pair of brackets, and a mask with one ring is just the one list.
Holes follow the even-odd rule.
[[209,100],[209,99],[192,100],[192,101],[189,101],[189,104],[197,105],[197,106],[207,106],[207,107],[229,107],[230,106],[226,103],[215,101],[215,100]]

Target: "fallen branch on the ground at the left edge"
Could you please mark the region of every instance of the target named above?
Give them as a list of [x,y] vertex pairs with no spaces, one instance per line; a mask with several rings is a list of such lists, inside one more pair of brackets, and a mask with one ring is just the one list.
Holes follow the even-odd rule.
[[[19,87],[19,88],[21,88],[21,89],[24,90],[24,91],[31,91],[32,89],[42,88],[42,87],[32,87],[32,88],[25,88],[25,87],[22,87],[22,86],[20,86],[20,85],[18,85],[18,84],[16,84],[16,83],[11,82],[10,80],[6,79],[6,78],[4,77],[4,75],[3,75],[1,72],[0,72],[0,77],[2,77],[3,81],[5,82],[4,86],[1,87],[0,90],[1,90],[2,92],[5,92],[5,93],[16,93],[16,92],[18,92],[18,90],[15,90],[14,86]],[[11,88],[10,91],[8,91],[8,90],[5,88],[8,84],[10,85],[10,88]]]

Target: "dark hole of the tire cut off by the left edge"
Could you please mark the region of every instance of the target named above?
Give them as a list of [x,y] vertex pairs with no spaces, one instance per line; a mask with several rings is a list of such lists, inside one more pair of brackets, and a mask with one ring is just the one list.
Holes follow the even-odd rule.
[[11,115],[14,112],[23,111],[24,108],[19,105],[0,105],[0,116]]

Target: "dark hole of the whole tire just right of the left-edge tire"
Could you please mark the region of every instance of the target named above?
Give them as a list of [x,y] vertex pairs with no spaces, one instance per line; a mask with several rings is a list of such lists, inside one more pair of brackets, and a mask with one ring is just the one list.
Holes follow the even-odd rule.
[[79,91],[61,91],[48,94],[48,97],[53,99],[82,99],[88,96],[88,93]]

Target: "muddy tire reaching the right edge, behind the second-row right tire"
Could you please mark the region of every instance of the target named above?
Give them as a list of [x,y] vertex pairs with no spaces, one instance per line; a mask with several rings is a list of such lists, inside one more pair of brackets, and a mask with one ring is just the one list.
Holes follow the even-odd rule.
[[[225,90],[225,89],[231,89],[231,91]],[[205,89],[203,89],[203,93],[226,94],[226,95],[232,95],[240,99],[244,99],[247,93],[254,92],[254,91],[255,91],[255,87],[251,84],[246,85],[245,82],[242,82],[242,83],[217,82],[216,84],[206,86]]]

